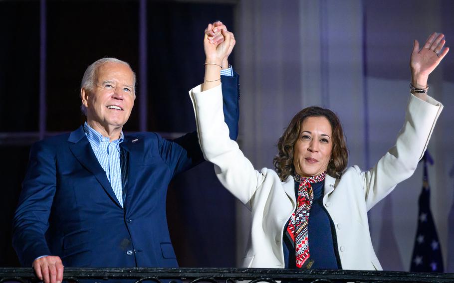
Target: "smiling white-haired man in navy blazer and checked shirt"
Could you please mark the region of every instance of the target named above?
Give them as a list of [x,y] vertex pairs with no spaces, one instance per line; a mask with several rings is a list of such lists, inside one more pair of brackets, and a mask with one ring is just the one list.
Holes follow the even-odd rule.
[[[213,32],[221,28],[218,22]],[[223,40],[212,35],[214,44]],[[227,57],[220,66],[227,73],[224,111],[236,139],[238,76]],[[21,264],[33,266],[46,283],[62,281],[63,265],[177,267],[166,220],[167,187],[204,160],[197,133],[172,141],[156,133],[125,135],[135,74],[115,58],[87,68],[80,97],[84,125],[31,148],[13,220]]]

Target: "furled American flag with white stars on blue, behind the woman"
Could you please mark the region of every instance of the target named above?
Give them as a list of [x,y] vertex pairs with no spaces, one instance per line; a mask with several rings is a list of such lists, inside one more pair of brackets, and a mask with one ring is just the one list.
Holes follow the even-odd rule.
[[428,151],[423,157],[423,189],[419,197],[418,229],[416,231],[410,271],[443,272],[442,248],[438,240],[437,228],[435,227],[430,206],[431,189],[427,163],[434,163]]

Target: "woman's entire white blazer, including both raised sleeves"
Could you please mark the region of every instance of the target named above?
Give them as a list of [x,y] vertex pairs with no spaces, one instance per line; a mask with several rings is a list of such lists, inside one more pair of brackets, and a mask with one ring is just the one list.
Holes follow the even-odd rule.
[[[282,182],[272,169],[255,170],[238,144],[229,139],[221,86],[204,92],[197,86],[190,96],[205,159],[215,164],[221,183],[251,210],[242,267],[284,268],[282,234],[296,209],[292,176]],[[352,166],[340,179],[326,175],[323,205],[336,227],[343,269],[382,270],[372,247],[367,211],[413,174],[442,109],[431,97],[425,102],[410,95],[396,145],[373,168],[361,171]]]

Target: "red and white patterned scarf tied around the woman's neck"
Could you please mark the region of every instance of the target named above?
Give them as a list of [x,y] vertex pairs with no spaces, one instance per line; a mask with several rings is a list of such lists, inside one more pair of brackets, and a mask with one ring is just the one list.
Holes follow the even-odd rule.
[[295,173],[295,182],[299,182],[296,211],[290,217],[287,233],[295,243],[296,267],[301,268],[309,258],[309,241],[307,226],[309,223],[309,211],[314,199],[312,191],[313,183],[322,182],[326,171],[317,176],[301,177]]

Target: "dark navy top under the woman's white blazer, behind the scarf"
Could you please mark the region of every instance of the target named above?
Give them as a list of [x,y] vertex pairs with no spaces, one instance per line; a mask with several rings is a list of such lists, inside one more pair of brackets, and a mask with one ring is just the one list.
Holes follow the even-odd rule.
[[[334,223],[322,203],[324,184],[324,181],[312,184],[314,200],[310,208],[309,224],[307,228],[310,258],[306,263],[313,261],[310,269],[341,269]],[[295,182],[296,198],[298,198],[298,187],[299,182]],[[290,221],[290,219],[288,221]],[[284,262],[285,268],[294,269],[296,268],[295,248],[293,241],[289,239],[285,233],[287,231],[287,225],[284,227],[284,234],[282,237]]]

